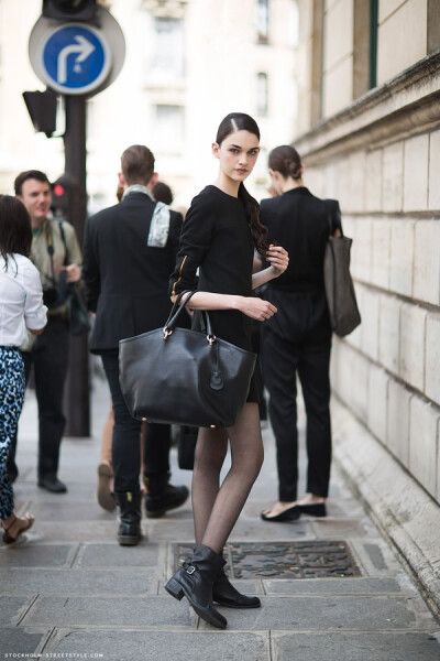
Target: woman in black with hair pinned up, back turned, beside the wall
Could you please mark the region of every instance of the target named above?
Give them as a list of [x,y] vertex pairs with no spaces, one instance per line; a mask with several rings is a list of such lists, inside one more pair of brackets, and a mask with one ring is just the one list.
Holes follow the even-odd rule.
[[[262,366],[271,395],[270,416],[277,448],[278,501],[262,512],[264,521],[292,521],[301,513],[324,517],[331,462],[331,326],[323,285],[323,256],[330,232],[341,227],[339,205],[330,207],[302,182],[298,152],[275,148],[268,158],[276,196],[261,204],[268,241],[289,253],[287,270],[267,284],[264,297],[278,314],[262,327]],[[330,210],[331,208],[331,210]],[[298,373],[307,414],[307,496],[297,500]]]

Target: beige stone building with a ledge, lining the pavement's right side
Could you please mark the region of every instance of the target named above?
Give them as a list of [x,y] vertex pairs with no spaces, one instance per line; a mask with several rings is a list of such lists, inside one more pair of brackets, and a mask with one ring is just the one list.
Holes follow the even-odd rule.
[[334,455],[440,607],[440,7],[299,0],[306,184],[340,201],[362,325],[334,339]]

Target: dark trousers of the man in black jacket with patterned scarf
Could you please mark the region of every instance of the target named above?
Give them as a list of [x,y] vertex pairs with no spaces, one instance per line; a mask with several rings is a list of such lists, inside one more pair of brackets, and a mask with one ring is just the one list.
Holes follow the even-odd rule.
[[[114,413],[112,441],[114,491],[139,491],[141,422],[131,416],[123,399],[119,383],[118,349],[102,353],[101,358]],[[147,424],[144,440],[146,477],[166,476],[169,473],[170,444],[169,424]]]

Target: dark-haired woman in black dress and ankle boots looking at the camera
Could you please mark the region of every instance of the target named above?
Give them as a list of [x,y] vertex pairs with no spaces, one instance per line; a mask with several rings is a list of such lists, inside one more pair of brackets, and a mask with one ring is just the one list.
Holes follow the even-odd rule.
[[[288,263],[283,248],[267,248],[258,205],[243,185],[255,165],[258,144],[258,127],[251,117],[233,112],[223,119],[212,144],[213,156],[220,162],[219,175],[191,203],[170,279],[173,300],[197,289],[189,304],[196,311],[195,325],[197,311],[213,311],[210,316],[216,334],[248,350],[252,350],[251,319],[264,322],[276,313],[275,305],[253,296],[252,290],[280,275]],[[252,275],[254,247],[265,254],[270,267]],[[260,606],[257,597],[241,595],[229,583],[222,556],[263,462],[257,402],[252,379],[248,401],[232,427],[200,429],[193,477],[197,545],[191,559],[165,586],[177,599],[185,595],[196,613],[218,628],[224,628],[227,620],[212,600],[231,608]],[[231,468],[220,485],[228,438]]]

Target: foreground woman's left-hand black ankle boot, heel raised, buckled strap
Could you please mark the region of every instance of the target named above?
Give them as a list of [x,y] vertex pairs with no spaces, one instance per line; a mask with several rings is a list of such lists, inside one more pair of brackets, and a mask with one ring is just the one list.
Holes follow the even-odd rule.
[[212,584],[223,568],[224,560],[208,546],[197,546],[193,556],[169,578],[165,589],[176,599],[185,595],[201,619],[218,629],[224,629],[227,619],[213,607]]

